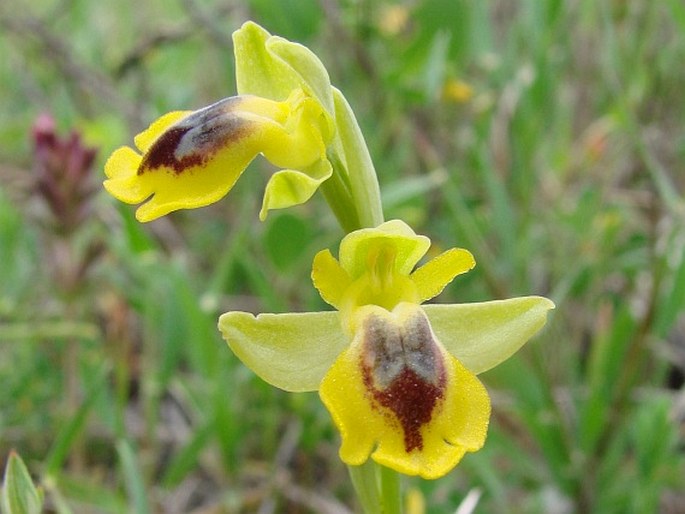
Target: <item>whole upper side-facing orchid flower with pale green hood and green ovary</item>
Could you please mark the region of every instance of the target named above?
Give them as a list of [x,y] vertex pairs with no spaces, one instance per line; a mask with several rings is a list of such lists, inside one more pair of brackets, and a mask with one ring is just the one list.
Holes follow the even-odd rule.
[[318,57],[253,22],[233,33],[233,47],[238,96],[159,118],[135,137],[137,149],[111,155],[105,189],[142,203],[136,217],[151,221],[218,201],[262,154],[284,169],[266,185],[260,219],[306,202],[321,187],[345,230],[380,223],[368,148]]

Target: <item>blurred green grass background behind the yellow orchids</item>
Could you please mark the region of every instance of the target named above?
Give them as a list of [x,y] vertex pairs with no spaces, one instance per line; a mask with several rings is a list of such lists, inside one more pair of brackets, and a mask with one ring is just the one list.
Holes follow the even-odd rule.
[[[474,253],[439,301],[557,303],[482,377],[485,449],[407,479],[427,512],[685,512],[681,0],[1,0],[0,464],[18,450],[50,512],[355,509],[316,395],[262,383],[215,328],[325,308],[311,260],[342,234],[322,198],[259,223],[256,162],[141,226],[99,190],[147,123],[234,94],[247,19],[325,63],[386,218]],[[42,113],[98,149],[66,232],[36,189]]]

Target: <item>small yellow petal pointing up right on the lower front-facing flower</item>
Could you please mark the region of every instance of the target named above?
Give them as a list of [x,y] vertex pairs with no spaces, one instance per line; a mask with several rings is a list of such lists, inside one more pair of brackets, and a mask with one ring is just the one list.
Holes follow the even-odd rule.
[[471,252],[461,248],[452,248],[428,261],[411,274],[420,302],[438,296],[454,277],[466,273],[475,265]]

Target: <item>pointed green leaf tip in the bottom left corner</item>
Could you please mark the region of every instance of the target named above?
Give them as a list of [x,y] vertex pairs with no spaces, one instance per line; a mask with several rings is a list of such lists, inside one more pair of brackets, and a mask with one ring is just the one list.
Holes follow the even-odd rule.
[[2,488],[2,510],[5,514],[38,514],[43,508],[43,492],[36,488],[29,470],[15,452],[5,468]]

